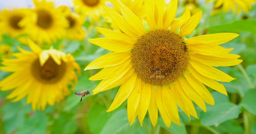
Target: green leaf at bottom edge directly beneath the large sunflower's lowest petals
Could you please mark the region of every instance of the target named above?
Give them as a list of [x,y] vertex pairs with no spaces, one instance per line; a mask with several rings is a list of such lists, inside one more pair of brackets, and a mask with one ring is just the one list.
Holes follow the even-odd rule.
[[180,122],[181,126],[176,125],[175,123],[172,122],[171,126],[167,128],[164,124],[163,119],[158,118],[157,124],[159,124],[162,128],[164,128],[165,130],[169,131],[172,134],[187,134],[186,127],[182,122]]

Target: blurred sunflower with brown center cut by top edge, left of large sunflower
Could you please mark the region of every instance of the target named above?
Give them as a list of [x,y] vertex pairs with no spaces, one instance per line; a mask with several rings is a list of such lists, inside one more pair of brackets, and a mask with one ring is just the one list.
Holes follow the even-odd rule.
[[102,5],[108,0],[74,0],[75,11],[82,13],[84,16],[99,19],[100,16],[104,16],[105,11]]

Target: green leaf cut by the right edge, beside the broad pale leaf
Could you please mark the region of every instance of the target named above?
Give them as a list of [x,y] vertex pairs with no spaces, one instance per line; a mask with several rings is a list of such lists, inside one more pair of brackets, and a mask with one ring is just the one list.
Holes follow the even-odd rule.
[[256,89],[248,90],[242,99],[240,106],[252,114],[256,114]]

